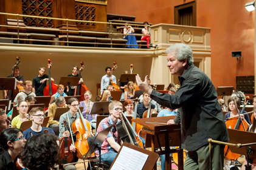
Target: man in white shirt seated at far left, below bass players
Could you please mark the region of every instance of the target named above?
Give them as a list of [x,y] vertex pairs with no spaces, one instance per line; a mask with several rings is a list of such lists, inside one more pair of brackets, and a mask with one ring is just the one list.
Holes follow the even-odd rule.
[[18,103],[18,98],[19,100],[25,100],[26,97],[28,96],[33,96],[35,97],[36,95],[32,92],[32,81],[26,80],[23,83],[24,90],[22,92],[19,92],[15,99],[13,100],[14,103]]

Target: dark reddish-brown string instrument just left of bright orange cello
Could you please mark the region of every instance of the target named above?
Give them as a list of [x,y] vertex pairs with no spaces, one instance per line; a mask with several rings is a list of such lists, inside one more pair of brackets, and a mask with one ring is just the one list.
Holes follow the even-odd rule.
[[[65,131],[67,131],[67,121],[63,120]],[[72,135],[72,134],[71,134]],[[70,137],[60,138],[60,155],[66,162],[72,162],[74,160],[74,152],[69,149],[72,144],[72,139]]]

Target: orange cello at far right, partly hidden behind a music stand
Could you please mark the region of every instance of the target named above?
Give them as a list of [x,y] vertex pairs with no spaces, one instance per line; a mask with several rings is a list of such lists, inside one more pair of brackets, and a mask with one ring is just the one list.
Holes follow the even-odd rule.
[[[238,111],[238,117],[232,117],[229,120],[227,120],[226,121],[226,126],[229,129],[237,129],[237,130],[240,130],[240,131],[246,131],[247,128],[249,127],[249,125],[246,123],[246,120],[241,120],[240,115],[242,115],[242,113],[244,112],[247,101],[246,100],[244,101],[244,106],[243,106],[243,109],[241,109],[240,113],[239,113],[237,103],[235,102],[235,100],[234,100],[234,103],[235,103],[235,107],[237,108],[237,111]],[[230,149],[229,149],[229,146],[227,146],[227,145],[225,146],[225,148],[224,148],[224,157],[226,157],[230,160],[235,160],[238,157],[240,157],[240,155],[241,154],[231,152]]]

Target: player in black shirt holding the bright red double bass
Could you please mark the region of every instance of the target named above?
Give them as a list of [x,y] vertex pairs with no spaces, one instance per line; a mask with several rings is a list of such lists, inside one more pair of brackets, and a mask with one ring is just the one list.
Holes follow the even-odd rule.
[[[49,76],[44,72],[46,72],[46,68],[40,67],[38,76],[33,78],[32,91],[36,94],[36,96],[44,95],[44,87],[46,86],[47,80],[49,80]],[[51,78],[51,80],[54,81],[53,78]]]

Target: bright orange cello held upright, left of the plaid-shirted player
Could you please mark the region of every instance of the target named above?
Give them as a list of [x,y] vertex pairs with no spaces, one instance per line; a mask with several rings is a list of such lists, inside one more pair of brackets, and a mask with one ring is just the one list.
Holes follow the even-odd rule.
[[91,132],[92,127],[89,121],[83,118],[79,107],[78,112],[80,118],[77,118],[77,120],[72,123],[72,131],[77,138],[77,140],[73,143],[75,148],[77,149],[77,157],[84,158],[86,153],[89,151],[89,144],[87,138],[93,136]]

